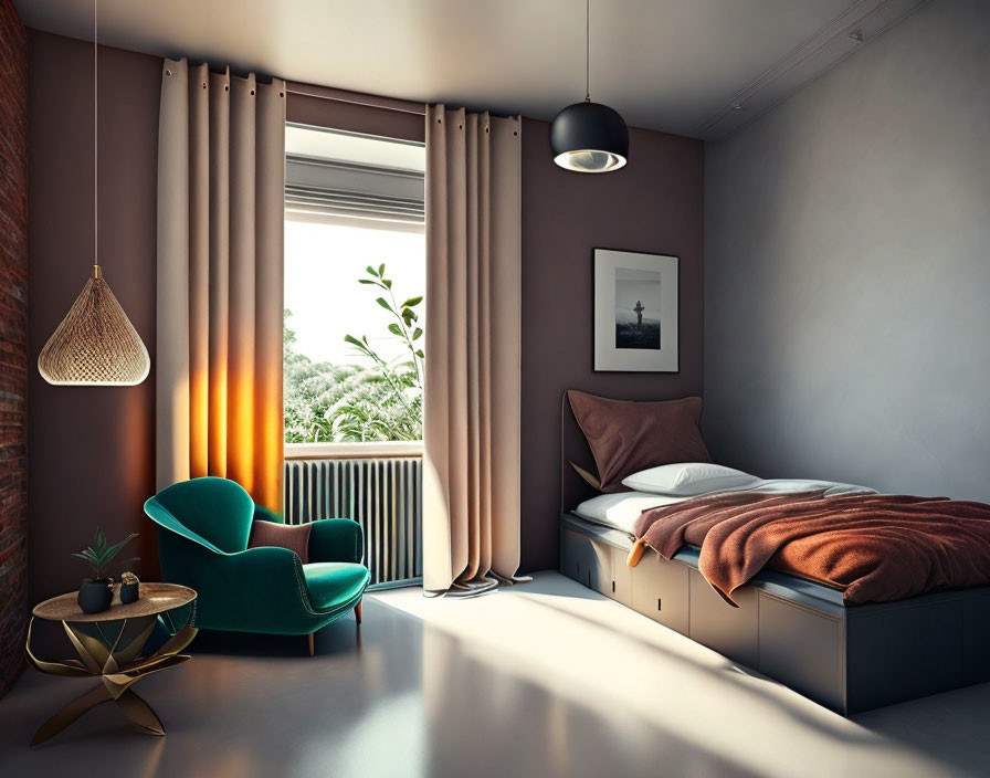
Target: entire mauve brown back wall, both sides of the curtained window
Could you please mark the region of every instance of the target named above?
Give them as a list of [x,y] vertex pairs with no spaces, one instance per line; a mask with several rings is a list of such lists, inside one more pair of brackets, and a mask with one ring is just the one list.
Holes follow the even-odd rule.
[[[140,532],[141,571],[157,572],[154,533],[143,517],[141,503],[154,491],[161,60],[114,49],[102,50],[101,56],[102,263],[151,351],[152,377],[126,389],[59,388],[44,383],[33,365],[88,272],[92,49],[35,31],[30,32],[30,44],[33,602],[78,584],[85,569],[70,554],[86,544],[96,524],[112,537]],[[291,118],[305,119],[310,108],[323,113],[310,101],[295,102],[297,111]],[[702,393],[703,155],[698,140],[633,129],[626,169],[581,176],[552,164],[547,123],[524,120],[524,570],[557,566],[565,389],[628,399]],[[680,374],[592,371],[593,248],[681,257]]]

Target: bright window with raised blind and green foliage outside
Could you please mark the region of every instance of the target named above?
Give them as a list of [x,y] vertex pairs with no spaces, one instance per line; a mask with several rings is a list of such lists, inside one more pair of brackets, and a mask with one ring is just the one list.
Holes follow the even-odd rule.
[[422,438],[422,144],[289,124],[285,442]]

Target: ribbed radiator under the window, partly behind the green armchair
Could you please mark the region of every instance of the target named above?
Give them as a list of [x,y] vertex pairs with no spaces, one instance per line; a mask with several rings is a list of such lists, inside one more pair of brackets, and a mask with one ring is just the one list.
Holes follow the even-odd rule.
[[371,586],[422,577],[422,460],[287,460],[284,505],[288,524],[360,524]]

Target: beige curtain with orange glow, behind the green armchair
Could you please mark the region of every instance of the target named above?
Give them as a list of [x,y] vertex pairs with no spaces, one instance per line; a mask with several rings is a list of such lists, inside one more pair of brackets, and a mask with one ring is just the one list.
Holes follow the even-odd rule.
[[166,60],[158,127],[157,483],[282,509],[285,84]]

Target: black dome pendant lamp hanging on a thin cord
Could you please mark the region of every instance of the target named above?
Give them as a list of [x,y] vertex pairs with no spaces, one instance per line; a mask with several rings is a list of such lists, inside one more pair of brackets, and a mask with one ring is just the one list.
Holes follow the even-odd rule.
[[584,102],[567,106],[550,126],[554,161],[577,172],[611,172],[629,160],[629,129],[618,112],[591,102],[591,0],[584,6]]

